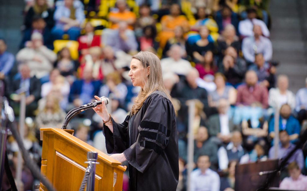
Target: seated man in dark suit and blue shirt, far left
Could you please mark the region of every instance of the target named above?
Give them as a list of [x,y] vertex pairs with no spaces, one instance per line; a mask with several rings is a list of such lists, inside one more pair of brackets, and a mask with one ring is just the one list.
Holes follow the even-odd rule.
[[25,115],[34,116],[37,109],[37,101],[41,98],[41,82],[35,76],[30,77],[30,69],[27,64],[20,64],[18,71],[21,75],[18,79],[13,79],[9,86],[6,86],[6,96],[10,98],[10,105],[14,109],[15,115],[19,115],[21,96],[18,94],[20,88],[25,90]]

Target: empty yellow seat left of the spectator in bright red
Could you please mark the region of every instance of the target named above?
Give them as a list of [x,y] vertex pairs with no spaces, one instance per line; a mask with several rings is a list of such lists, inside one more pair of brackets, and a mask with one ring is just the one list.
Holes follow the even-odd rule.
[[67,47],[70,51],[72,59],[76,60],[79,57],[78,53],[79,43],[75,40],[55,40],[53,41],[53,46],[54,46],[53,51],[55,53],[62,50],[62,48]]

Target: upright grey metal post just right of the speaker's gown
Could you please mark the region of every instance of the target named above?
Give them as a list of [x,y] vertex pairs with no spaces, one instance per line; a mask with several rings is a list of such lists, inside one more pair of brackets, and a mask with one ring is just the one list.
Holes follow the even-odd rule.
[[190,175],[194,168],[194,131],[193,131],[193,120],[195,116],[195,101],[188,101],[188,180],[187,187],[190,190],[191,179]]

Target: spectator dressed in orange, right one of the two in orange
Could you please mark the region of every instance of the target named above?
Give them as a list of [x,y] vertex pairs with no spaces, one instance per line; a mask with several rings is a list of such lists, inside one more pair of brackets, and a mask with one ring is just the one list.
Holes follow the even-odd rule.
[[170,14],[161,18],[162,31],[159,33],[160,46],[163,48],[167,40],[173,36],[177,26],[182,26],[184,33],[189,31],[189,23],[184,15],[180,15],[181,10],[178,4],[173,4],[170,8]]

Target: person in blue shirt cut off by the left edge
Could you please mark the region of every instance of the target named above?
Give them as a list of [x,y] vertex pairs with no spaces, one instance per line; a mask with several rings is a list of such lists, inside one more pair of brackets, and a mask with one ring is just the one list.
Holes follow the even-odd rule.
[[6,52],[6,41],[0,38],[0,80],[4,79],[5,75],[9,74],[14,66],[14,55]]

